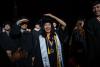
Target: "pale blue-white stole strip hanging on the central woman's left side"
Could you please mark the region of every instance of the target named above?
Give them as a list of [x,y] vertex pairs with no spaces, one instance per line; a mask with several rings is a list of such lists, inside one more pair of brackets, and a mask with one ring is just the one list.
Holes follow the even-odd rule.
[[42,56],[42,62],[44,67],[50,67],[50,62],[47,53],[47,46],[45,38],[42,35],[39,35],[39,42],[40,42],[40,50]]

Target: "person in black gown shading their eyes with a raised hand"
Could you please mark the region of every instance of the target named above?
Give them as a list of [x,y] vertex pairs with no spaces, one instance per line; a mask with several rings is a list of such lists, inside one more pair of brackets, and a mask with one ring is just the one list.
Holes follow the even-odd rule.
[[33,51],[33,35],[28,29],[28,19],[21,19],[17,21],[12,31],[12,37],[17,39],[16,51],[13,52],[14,62],[17,67],[32,67],[34,60]]

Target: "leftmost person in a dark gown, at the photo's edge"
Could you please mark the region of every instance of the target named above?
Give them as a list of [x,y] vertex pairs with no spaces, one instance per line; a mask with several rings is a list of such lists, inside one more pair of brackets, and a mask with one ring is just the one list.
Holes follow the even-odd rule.
[[0,66],[13,67],[11,61],[11,52],[14,49],[14,43],[10,37],[11,25],[5,23],[4,30],[0,33]]

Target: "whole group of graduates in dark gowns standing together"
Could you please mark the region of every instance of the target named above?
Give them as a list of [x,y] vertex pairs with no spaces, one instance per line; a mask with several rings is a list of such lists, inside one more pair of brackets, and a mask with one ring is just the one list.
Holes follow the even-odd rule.
[[100,2],[92,5],[95,16],[79,18],[69,34],[67,22],[44,14],[34,28],[22,18],[0,31],[0,65],[3,67],[99,67]]

